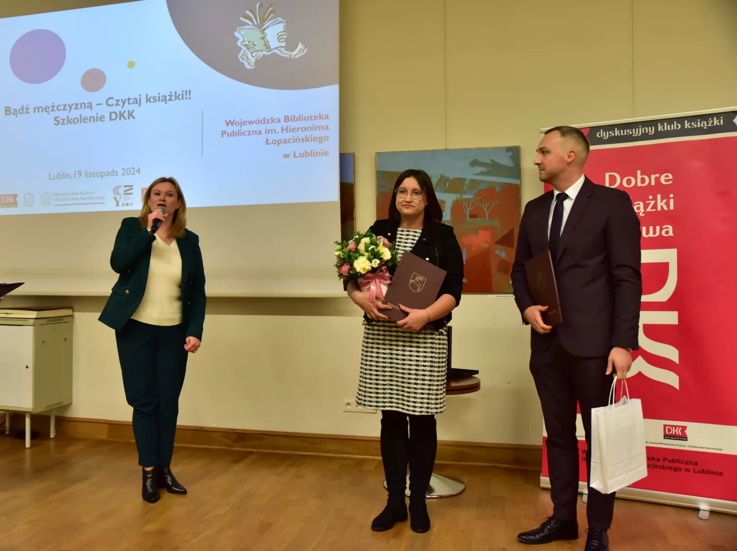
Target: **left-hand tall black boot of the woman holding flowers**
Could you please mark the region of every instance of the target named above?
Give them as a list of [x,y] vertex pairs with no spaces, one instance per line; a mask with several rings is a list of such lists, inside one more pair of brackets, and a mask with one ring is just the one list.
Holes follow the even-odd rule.
[[371,522],[371,530],[383,532],[390,530],[395,523],[407,520],[407,456],[407,415],[382,411],[381,460],[389,496],[384,510]]

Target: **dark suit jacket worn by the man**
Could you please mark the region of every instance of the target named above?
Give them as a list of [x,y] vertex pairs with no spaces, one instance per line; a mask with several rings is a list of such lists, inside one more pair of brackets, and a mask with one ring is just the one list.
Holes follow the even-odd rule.
[[[552,191],[531,200],[520,222],[511,282],[523,314],[534,306],[525,260],[550,248],[552,203]],[[637,349],[643,291],[640,220],[626,192],[584,180],[563,226],[555,266],[563,323],[553,331],[565,349],[581,357],[607,356],[614,346]],[[547,349],[553,331],[531,331],[532,350]]]

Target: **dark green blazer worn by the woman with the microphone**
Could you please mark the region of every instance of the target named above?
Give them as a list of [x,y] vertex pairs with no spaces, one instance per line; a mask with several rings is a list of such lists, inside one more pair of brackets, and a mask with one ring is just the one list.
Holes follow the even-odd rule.
[[[123,219],[110,256],[110,265],[120,276],[99,315],[102,323],[116,331],[123,329],[143,299],[154,241],[156,237],[139,225],[138,218]],[[182,257],[182,320],[186,337],[202,340],[207,299],[200,238],[187,230],[184,237],[177,239],[177,247]]]

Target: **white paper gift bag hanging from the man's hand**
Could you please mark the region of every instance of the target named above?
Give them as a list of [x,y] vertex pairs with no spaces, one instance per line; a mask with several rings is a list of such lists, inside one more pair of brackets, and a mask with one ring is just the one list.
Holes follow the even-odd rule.
[[[639,399],[630,399],[622,381],[622,399],[615,403],[615,385],[609,405],[591,410],[592,488],[611,494],[647,476],[645,421]],[[626,393],[626,396],[624,396]]]

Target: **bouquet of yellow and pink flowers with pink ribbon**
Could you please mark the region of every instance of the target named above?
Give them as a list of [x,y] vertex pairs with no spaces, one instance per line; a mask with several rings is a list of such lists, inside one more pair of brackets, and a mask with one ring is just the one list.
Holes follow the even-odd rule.
[[336,241],[335,270],[338,279],[356,279],[362,291],[371,293],[371,302],[384,300],[384,293],[391,282],[389,267],[397,265],[394,243],[371,231],[356,231],[350,241]]

